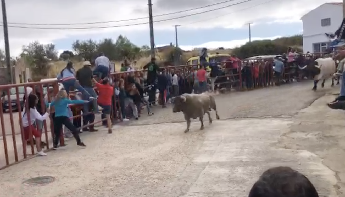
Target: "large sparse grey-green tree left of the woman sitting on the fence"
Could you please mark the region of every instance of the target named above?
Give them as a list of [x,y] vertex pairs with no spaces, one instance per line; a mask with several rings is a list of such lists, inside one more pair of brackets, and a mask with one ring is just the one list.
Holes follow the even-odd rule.
[[57,51],[54,44],[40,44],[38,41],[23,46],[21,57],[29,64],[32,73],[37,76],[47,76],[48,62],[57,60]]

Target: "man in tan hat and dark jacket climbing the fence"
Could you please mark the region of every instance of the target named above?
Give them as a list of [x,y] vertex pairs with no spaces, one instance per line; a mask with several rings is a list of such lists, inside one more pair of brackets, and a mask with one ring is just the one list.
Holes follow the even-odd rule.
[[[93,90],[92,87],[92,79],[93,79],[93,74],[92,74],[92,70],[91,70],[91,64],[89,61],[85,61],[83,63],[83,68],[79,69],[76,73],[76,79],[79,81],[79,84],[92,96],[96,98],[96,92],[95,90]],[[87,97],[85,97],[85,95],[83,95],[83,100],[87,100]],[[93,100],[93,109],[95,110],[95,113],[98,113],[98,104],[97,104],[97,100]],[[89,118],[91,116],[87,116],[87,114],[90,112],[91,110],[89,110],[89,104],[86,103],[83,105],[83,114],[85,114],[83,116],[83,119],[87,119],[87,120],[83,120],[83,123],[90,123],[92,121],[92,118]],[[90,131],[95,131],[95,129],[93,127],[89,127]],[[83,128],[83,131],[88,131],[88,128]]]

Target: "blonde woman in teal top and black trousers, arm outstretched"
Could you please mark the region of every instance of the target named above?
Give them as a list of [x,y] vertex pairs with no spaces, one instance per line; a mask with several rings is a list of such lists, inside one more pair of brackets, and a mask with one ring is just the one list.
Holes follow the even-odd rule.
[[73,137],[77,141],[78,146],[86,146],[79,137],[78,129],[71,123],[68,117],[68,105],[69,104],[84,104],[89,101],[84,100],[70,100],[66,90],[60,90],[55,96],[54,101],[50,103],[50,106],[55,106],[55,118],[54,118],[54,146],[53,149],[57,149],[59,145],[59,139],[61,136],[62,126],[65,125],[73,134]]

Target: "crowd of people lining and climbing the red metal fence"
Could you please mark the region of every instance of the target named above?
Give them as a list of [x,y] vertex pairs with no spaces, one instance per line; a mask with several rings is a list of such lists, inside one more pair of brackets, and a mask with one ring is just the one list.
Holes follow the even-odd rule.
[[[72,62],[68,62],[66,68],[57,76],[64,88],[56,96],[53,96],[54,91],[50,88],[48,93],[43,95],[44,100],[40,101],[43,93],[39,89],[27,91],[30,93],[28,106],[31,122],[28,123],[29,116],[26,115],[29,108],[24,107],[22,124],[26,133],[26,142],[29,136],[27,133],[31,129],[39,155],[45,155],[41,151],[41,146],[45,146],[45,143],[41,142],[40,133],[43,120],[50,117],[53,122],[51,129],[54,130],[56,136],[54,149],[58,148],[63,125],[65,125],[65,132],[63,132],[65,137],[74,137],[78,145],[85,146],[79,133],[98,131],[93,122],[95,114],[99,114],[100,111],[102,124],[108,127],[108,132],[111,133],[111,126],[114,124],[112,120],[115,120],[111,117],[120,117],[124,122],[132,117],[139,120],[143,107],[146,107],[147,115],[154,115],[151,111],[152,107],[160,104],[165,108],[172,97],[184,93],[200,94],[206,91],[218,91],[238,87],[240,83],[247,88],[260,87],[266,86],[274,79],[279,85],[280,81],[284,81],[284,72],[292,68],[296,70],[296,64],[303,65],[308,61],[313,61],[311,55],[303,59],[296,58],[291,49],[288,55],[283,54],[274,58],[273,67],[267,66],[271,63],[270,60],[242,62],[235,54],[226,62],[217,62],[216,59],[208,62],[206,61],[207,50],[202,50],[200,57],[203,57],[200,58],[200,66],[189,68],[160,68],[156,64],[156,59],[152,58],[144,66],[147,70],[146,74],[143,71],[134,70],[133,65],[136,62],[131,65],[125,60],[121,68],[121,71],[125,73],[122,75],[110,75],[111,63],[103,53],[95,60],[94,66],[89,61],[85,61],[83,67],[77,71],[73,68]],[[210,72],[206,71],[207,66]],[[271,73],[274,73],[274,76]],[[301,75],[297,73],[294,76]],[[156,103],[157,94],[159,95],[158,103]],[[41,104],[42,102],[44,105]]]

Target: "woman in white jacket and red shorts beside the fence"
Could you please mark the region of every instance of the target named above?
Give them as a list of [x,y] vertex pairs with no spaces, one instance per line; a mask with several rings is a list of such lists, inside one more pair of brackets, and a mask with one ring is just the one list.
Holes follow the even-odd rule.
[[[24,107],[22,112],[22,125],[24,130],[24,141],[23,141],[23,148],[24,152],[26,152],[27,142],[30,138],[30,130],[32,135],[35,137],[36,141],[36,148],[37,153],[40,156],[46,156],[47,154],[42,151],[41,148],[41,132],[37,131],[36,127],[34,126],[34,122],[36,120],[44,121],[49,117],[49,108],[47,108],[46,113],[41,115],[36,110],[36,105],[38,103],[38,98],[34,94],[29,94],[28,96],[28,109]],[[29,121],[29,114],[30,114],[30,121]]]

